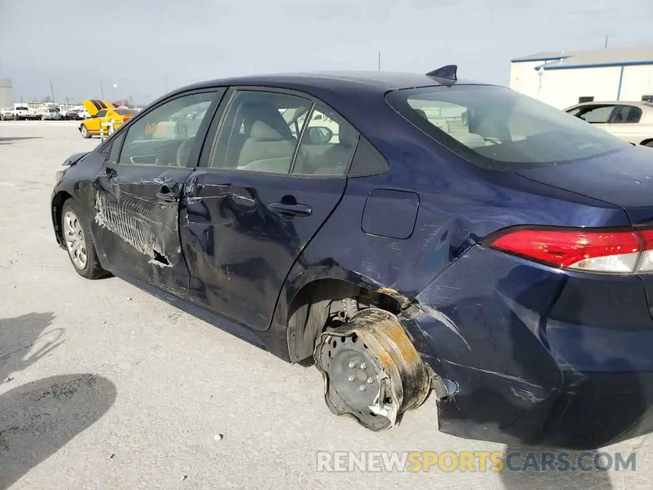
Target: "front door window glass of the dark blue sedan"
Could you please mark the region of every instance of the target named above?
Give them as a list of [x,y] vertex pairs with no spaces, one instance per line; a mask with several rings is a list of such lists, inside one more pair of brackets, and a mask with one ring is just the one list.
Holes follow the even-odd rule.
[[[118,163],[185,167],[199,125],[215,97],[215,92],[183,95],[145,114],[127,129]],[[177,117],[198,112],[204,116]]]

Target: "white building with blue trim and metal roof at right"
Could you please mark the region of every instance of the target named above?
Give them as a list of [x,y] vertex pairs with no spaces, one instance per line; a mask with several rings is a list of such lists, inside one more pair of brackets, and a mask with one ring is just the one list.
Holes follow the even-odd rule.
[[511,60],[510,88],[558,108],[653,100],[653,46],[541,52]]

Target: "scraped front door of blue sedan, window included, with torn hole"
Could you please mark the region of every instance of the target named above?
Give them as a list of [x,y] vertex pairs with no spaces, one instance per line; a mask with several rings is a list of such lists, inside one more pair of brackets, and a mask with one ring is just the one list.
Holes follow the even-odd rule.
[[[94,182],[93,232],[111,268],[183,299],[190,297],[179,233],[182,189],[206,135],[203,118],[222,93],[188,93],[148,110],[112,138]],[[197,125],[185,123],[193,114],[201,114]]]

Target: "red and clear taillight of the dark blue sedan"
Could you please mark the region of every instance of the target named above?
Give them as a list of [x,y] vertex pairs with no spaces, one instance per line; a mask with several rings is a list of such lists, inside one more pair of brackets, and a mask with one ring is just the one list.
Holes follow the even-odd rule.
[[507,229],[487,245],[563,269],[653,272],[653,230]]

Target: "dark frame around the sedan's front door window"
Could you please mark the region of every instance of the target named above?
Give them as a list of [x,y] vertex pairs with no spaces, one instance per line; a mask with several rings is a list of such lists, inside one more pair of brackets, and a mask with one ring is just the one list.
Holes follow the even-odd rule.
[[[220,93],[222,91],[222,93]],[[133,122],[138,121],[142,117],[146,117],[148,114],[151,114],[154,110],[157,110],[157,108],[167,104],[168,102],[172,102],[176,99],[180,99],[181,97],[187,97],[189,95],[196,95],[198,93],[214,93],[214,99],[211,101],[211,104],[208,106],[206,109],[206,116],[204,117],[204,120],[202,120],[202,123],[200,123],[199,128],[197,129],[197,133],[195,133],[195,143],[193,144],[193,148],[191,148],[191,153],[189,156],[189,162],[193,161],[195,159],[196,164],[189,167],[188,165],[186,167],[170,167],[170,165],[146,165],[146,164],[136,164],[136,163],[119,163],[120,156],[122,154],[123,146],[125,145],[125,139],[127,139],[127,134],[129,134],[129,129],[133,126]],[[112,142],[115,138],[116,135],[125,127],[125,131],[127,131],[127,134],[125,134],[125,137],[120,143],[120,151],[118,152],[118,162],[116,162],[115,165],[122,165],[123,167],[155,167],[157,169],[167,169],[167,168],[186,168],[186,169],[195,169],[199,165],[199,161],[197,159],[196,154],[196,148],[197,147],[197,135],[200,135],[200,139],[202,140],[202,143],[199,146],[199,152],[201,152],[202,147],[204,146],[206,137],[208,136],[208,129],[210,125],[210,121],[213,120],[215,116],[215,111],[217,111],[217,108],[219,107],[220,103],[222,102],[223,97],[225,96],[225,93],[227,93],[227,87],[225,86],[216,86],[212,88],[202,88],[202,89],[196,89],[196,90],[188,90],[188,91],[183,91],[180,93],[175,93],[174,95],[171,95],[170,97],[167,97],[161,101],[158,101],[155,105],[152,105],[148,107],[146,110],[140,111],[140,113],[136,114],[133,118],[130,118],[127,123],[123,123],[119,128],[118,131],[116,131],[114,134],[111,135],[110,138],[104,142],[104,146],[100,148],[99,150],[104,149],[104,147],[107,146],[107,144],[110,144],[109,142]],[[213,108],[213,109],[212,109]],[[109,150],[111,152],[111,150]],[[108,156],[108,155],[107,155]],[[106,159],[105,159],[106,161]]]

